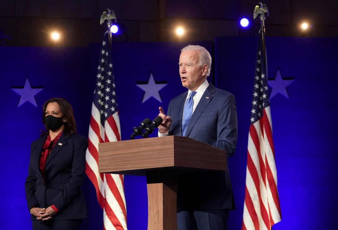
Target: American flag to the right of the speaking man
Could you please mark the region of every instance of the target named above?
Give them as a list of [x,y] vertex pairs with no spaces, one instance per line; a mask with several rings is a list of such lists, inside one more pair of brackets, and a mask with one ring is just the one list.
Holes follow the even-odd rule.
[[258,42],[248,138],[242,230],[266,230],[282,219],[267,85],[265,47]]

